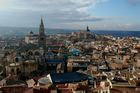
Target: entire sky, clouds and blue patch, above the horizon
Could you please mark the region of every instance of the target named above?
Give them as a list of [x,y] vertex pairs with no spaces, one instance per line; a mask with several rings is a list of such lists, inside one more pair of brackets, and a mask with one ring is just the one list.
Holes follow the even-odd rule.
[[140,31],[140,0],[0,0],[0,26]]

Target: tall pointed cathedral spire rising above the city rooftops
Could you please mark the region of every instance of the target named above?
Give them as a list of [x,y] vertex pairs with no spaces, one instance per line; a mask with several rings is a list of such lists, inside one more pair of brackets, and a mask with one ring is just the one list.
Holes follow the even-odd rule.
[[46,35],[45,35],[45,28],[44,28],[44,24],[43,24],[43,20],[41,18],[41,24],[39,27],[39,46],[44,47],[46,46]]

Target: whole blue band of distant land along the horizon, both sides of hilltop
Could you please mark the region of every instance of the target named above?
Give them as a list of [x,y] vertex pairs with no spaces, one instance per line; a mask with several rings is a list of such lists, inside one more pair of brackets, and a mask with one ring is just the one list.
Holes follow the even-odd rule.
[[[0,27],[0,37],[24,37],[29,34],[30,31],[38,34],[39,28],[33,27]],[[61,34],[61,33],[71,33],[79,30],[70,29],[46,29],[46,34]],[[114,31],[114,30],[92,30],[95,34],[101,35],[113,35],[113,36],[136,36],[140,37],[140,31]]]

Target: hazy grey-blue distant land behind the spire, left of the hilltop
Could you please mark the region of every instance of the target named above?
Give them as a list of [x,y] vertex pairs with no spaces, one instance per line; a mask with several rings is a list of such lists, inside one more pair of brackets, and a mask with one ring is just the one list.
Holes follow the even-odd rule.
[[[0,27],[1,37],[24,37],[29,34],[30,31],[38,34],[39,28],[33,27]],[[46,29],[46,34],[60,34],[60,33],[71,33],[76,30],[65,30],[65,29]]]

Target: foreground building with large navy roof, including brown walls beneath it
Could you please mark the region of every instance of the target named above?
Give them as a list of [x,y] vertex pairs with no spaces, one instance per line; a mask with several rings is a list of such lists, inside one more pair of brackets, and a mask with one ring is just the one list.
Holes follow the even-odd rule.
[[41,89],[49,91],[48,93],[52,93],[52,90],[55,90],[55,93],[85,93],[88,88],[88,76],[79,72],[52,73],[39,79],[38,83],[34,93],[40,93]]

